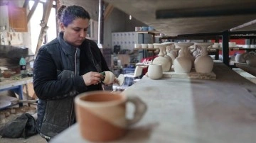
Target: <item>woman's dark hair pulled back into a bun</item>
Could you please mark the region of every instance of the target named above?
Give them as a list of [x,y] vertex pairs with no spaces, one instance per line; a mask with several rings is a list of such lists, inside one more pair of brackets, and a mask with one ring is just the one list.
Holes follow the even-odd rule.
[[65,26],[68,26],[75,18],[84,18],[90,20],[90,14],[85,11],[85,8],[82,6],[60,6],[57,11],[57,18],[60,23],[63,23]]

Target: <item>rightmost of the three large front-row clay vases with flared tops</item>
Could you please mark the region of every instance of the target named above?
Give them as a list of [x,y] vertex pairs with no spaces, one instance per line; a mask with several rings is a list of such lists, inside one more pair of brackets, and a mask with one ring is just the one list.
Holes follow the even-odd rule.
[[213,70],[213,58],[208,55],[207,47],[213,45],[212,42],[195,42],[201,47],[201,56],[195,59],[195,69],[199,73],[210,73]]

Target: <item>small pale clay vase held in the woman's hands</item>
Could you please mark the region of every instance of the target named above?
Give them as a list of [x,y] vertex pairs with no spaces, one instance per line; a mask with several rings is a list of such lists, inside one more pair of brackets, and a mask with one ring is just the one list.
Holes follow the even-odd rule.
[[101,74],[105,76],[105,78],[102,80],[104,84],[112,84],[114,79],[118,81],[117,84],[119,86],[122,86],[122,84],[124,84],[124,74],[119,74],[118,77],[115,77],[111,71],[103,71]]

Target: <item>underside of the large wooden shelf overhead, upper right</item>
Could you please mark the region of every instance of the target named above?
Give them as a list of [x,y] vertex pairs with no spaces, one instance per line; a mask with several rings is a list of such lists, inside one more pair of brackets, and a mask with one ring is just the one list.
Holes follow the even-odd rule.
[[104,1],[169,36],[256,30],[255,0]]

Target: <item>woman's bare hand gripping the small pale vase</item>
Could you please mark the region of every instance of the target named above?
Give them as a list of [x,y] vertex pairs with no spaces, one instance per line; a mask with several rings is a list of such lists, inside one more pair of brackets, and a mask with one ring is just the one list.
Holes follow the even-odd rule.
[[85,81],[86,86],[96,85],[101,82],[101,79],[104,79],[104,76],[98,72],[87,72],[86,74],[82,75],[82,79]]

